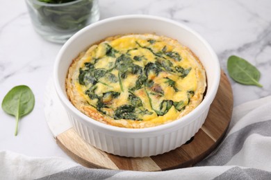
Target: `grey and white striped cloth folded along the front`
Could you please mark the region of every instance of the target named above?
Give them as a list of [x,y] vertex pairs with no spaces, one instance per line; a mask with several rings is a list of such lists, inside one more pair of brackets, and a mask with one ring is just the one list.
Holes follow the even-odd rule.
[[85,168],[57,157],[0,152],[0,179],[271,179],[271,96],[233,109],[222,143],[192,168],[136,172]]

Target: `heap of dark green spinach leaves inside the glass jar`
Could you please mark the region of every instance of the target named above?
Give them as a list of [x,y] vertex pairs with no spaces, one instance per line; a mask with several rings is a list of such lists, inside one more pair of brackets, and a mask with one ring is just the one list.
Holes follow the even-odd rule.
[[[75,0],[38,0],[44,3],[60,4]],[[61,33],[71,33],[80,30],[89,24],[93,1],[81,0],[63,6],[33,6],[38,13],[38,20],[45,28],[51,28]]]

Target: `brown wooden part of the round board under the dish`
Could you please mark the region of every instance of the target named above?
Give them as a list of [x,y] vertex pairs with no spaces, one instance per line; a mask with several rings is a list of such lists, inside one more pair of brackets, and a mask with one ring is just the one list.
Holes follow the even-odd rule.
[[143,158],[115,156],[85,143],[74,128],[56,136],[56,143],[75,161],[88,168],[161,171],[186,168],[201,161],[222,141],[231,121],[233,93],[222,71],[220,86],[204,125],[186,144],[165,154]]

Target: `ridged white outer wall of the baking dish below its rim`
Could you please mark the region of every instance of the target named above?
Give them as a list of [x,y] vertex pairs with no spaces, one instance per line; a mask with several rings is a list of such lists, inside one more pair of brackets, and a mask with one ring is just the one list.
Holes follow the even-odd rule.
[[151,137],[145,137],[142,134],[142,138],[110,136],[97,132],[93,127],[83,125],[79,118],[77,119],[71,114],[69,114],[69,120],[74,125],[76,132],[90,145],[110,154],[142,157],[163,154],[176,149],[176,147],[180,147],[190,140],[199,128],[202,127],[207,114],[208,109],[197,120],[191,120],[190,123],[180,129],[176,129],[174,132],[160,132],[158,136]]

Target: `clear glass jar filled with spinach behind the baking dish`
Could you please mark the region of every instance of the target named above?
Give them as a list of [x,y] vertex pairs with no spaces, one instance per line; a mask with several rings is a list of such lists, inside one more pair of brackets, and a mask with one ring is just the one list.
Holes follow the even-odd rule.
[[81,28],[99,20],[97,0],[44,3],[26,0],[32,24],[44,39],[63,44]]

